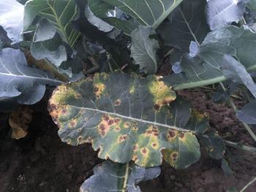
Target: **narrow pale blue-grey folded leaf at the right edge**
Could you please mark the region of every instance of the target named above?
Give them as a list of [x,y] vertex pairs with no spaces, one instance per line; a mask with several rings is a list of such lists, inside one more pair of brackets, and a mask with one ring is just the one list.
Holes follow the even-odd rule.
[[256,99],[256,84],[245,67],[230,55],[224,55],[222,70],[225,77],[233,82],[244,83]]

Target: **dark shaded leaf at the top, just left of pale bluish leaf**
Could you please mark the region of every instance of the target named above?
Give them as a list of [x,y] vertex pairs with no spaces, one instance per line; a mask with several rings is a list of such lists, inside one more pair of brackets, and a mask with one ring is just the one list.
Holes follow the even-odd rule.
[[184,0],[169,16],[169,21],[159,26],[165,45],[189,52],[191,41],[200,44],[209,31],[206,23],[206,0]]

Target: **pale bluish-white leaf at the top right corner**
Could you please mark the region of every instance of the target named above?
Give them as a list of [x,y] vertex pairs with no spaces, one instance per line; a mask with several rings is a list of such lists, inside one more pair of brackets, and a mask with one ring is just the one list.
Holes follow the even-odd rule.
[[208,24],[211,30],[238,23],[243,17],[249,0],[209,0],[207,7]]

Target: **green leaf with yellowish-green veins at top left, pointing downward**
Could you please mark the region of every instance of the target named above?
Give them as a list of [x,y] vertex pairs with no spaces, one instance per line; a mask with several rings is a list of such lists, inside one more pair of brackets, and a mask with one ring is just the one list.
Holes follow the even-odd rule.
[[71,21],[78,15],[75,0],[28,1],[24,9],[24,31],[29,28],[37,15],[53,23],[64,42],[71,47],[75,45],[80,37],[80,32],[75,31],[71,26]]

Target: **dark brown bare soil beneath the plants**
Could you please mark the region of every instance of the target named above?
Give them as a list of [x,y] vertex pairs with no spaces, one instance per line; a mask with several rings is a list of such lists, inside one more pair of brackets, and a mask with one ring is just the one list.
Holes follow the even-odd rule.
[[[233,110],[211,101],[211,91],[195,89],[180,94],[197,110],[208,112],[211,126],[222,137],[255,146]],[[9,115],[0,114],[0,192],[78,192],[83,180],[93,174],[93,167],[102,162],[90,145],[72,147],[61,142],[46,103],[47,99],[33,106],[29,134],[19,140],[11,138]],[[256,176],[256,155],[227,147],[226,156],[232,175],[225,175],[220,161],[202,151],[200,161],[188,169],[175,170],[163,164],[161,175],[141,183],[140,188],[146,192],[216,192],[235,187],[239,191]],[[256,191],[256,183],[245,192],[250,191]]]

